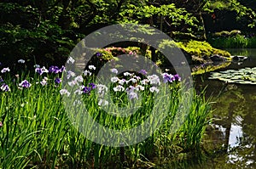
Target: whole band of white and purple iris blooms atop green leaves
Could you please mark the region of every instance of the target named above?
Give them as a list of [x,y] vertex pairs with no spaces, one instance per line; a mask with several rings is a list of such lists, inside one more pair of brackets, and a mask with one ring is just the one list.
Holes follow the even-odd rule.
[[[75,59],[70,57],[67,60],[68,64],[73,64]],[[24,64],[25,60],[18,60],[18,63]],[[76,75],[71,70],[66,70],[65,66],[55,66],[51,65],[47,69],[46,67],[41,67],[40,65],[35,65],[35,73],[40,79],[39,82],[29,82],[28,79],[24,79],[20,81],[19,76],[17,75],[17,87],[22,89],[32,87],[32,84],[47,86],[48,84],[55,85],[55,87],[61,86],[61,76],[67,76],[67,85],[70,87],[77,87],[77,90],[74,91],[75,94],[84,94],[90,95],[93,90],[96,90],[99,96],[99,105],[107,105],[108,101],[104,99],[105,94],[109,91],[110,93],[115,93],[116,95],[126,93],[128,99],[138,99],[138,93],[143,93],[143,91],[149,91],[150,93],[159,93],[160,91],[160,83],[172,83],[181,81],[181,77],[178,75],[172,75],[167,72],[162,73],[161,76],[158,75],[148,75],[147,70],[140,70],[138,72],[121,72],[116,68],[110,69],[111,75],[111,89],[108,90],[108,87],[103,84],[95,84],[90,82],[89,79],[93,79],[91,76],[94,75],[94,71],[96,70],[96,66],[89,65],[86,70],[84,70],[82,75]],[[3,68],[0,74],[0,91],[9,92],[9,85],[4,82],[2,76],[9,72],[9,67]],[[44,77],[43,77],[44,75]],[[88,82],[89,81],[89,82]],[[87,85],[85,85],[87,84]],[[71,91],[67,91],[67,89],[62,88],[60,91],[61,95],[70,96]]]

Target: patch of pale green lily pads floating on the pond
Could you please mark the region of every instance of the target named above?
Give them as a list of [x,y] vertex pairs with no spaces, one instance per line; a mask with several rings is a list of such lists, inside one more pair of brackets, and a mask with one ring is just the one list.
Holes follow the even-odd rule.
[[240,70],[225,70],[212,72],[209,79],[218,79],[224,82],[240,84],[256,84],[256,67],[243,68]]

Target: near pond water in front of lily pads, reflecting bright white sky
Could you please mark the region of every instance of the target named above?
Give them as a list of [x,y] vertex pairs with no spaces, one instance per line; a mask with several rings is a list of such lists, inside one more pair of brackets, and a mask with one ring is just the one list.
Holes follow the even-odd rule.
[[256,168],[255,87],[206,82],[214,102],[212,127],[203,139],[207,157],[173,161],[161,168]]

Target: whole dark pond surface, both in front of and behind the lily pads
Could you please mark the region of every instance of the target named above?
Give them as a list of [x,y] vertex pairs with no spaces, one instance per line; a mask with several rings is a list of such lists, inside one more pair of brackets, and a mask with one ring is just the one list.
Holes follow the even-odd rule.
[[[216,70],[256,67],[255,49],[226,49],[249,59]],[[227,83],[209,79],[211,73],[195,76],[195,87],[207,87],[212,100],[212,125],[207,128],[204,148],[215,155],[203,162],[204,168],[256,168],[256,85]],[[207,151],[206,150],[206,151]],[[201,166],[199,168],[201,168]]]

